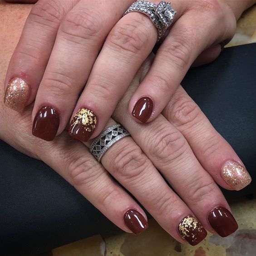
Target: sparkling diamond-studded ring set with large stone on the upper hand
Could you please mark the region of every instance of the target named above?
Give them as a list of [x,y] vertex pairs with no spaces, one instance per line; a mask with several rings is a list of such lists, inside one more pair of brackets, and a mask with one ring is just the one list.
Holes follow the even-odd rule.
[[[147,15],[158,30],[158,41],[162,38],[168,27],[172,25],[173,17],[177,13],[172,9],[170,2],[161,1],[159,5],[149,1],[138,0],[124,13],[141,12]],[[123,15],[123,16],[124,16]]]

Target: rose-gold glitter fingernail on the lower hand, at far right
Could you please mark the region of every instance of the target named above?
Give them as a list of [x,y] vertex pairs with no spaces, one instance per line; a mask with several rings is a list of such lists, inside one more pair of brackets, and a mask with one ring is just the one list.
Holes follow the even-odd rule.
[[222,177],[234,190],[241,190],[251,183],[251,176],[246,168],[234,161],[227,161],[223,165]]

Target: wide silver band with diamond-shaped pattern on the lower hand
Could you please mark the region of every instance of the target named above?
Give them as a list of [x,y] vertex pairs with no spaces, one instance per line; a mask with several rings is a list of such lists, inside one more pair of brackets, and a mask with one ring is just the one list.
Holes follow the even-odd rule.
[[130,133],[120,124],[110,126],[94,139],[90,147],[92,155],[100,162],[103,154],[119,139],[129,136]]

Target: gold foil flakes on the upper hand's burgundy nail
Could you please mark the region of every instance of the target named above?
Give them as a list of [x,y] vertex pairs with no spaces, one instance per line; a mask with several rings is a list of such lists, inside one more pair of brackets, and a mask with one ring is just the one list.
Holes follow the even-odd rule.
[[71,125],[82,123],[86,132],[92,132],[96,128],[97,118],[94,112],[88,108],[80,108],[74,115]]

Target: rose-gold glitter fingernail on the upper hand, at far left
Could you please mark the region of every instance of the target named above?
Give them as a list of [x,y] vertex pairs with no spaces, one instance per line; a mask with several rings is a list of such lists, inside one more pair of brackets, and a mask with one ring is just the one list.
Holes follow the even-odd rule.
[[4,103],[7,107],[22,112],[29,99],[29,85],[20,78],[11,79],[5,91]]

